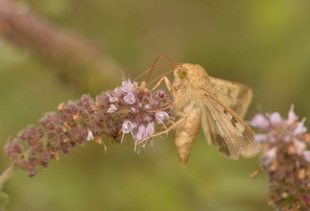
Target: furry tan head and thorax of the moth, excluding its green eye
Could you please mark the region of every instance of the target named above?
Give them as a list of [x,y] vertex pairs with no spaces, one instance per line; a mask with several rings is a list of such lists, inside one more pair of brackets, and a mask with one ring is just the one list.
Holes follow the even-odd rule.
[[189,103],[199,106],[202,102],[203,90],[208,90],[213,93],[211,81],[206,73],[206,70],[200,65],[183,64],[179,68],[184,68],[188,71],[188,76],[185,79],[179,77],[179,70],[174,72],[173,86],[176,88],[174,99],[178,99],[175,108],[183,109]]

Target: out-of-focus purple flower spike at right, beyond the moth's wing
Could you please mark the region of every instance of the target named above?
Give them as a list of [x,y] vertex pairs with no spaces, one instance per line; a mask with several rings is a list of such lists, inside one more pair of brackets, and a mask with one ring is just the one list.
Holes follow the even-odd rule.
[[278,112],[257,114],[250,124],[260,131],[255,140],[262,153],[260,165],[268,171],[269,202],[275,210],[310,210],[310,134],[298,122],[293,106],[287,119]]

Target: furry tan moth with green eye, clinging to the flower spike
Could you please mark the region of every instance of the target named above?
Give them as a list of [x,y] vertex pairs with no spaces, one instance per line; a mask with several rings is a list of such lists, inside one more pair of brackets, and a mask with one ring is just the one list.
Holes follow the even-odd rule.
[[172,109],[179,120],[170,128],[175,128],[181,163],[186,165],[200,127],[208,143],[219,146],[225,157],[252,157],[256,148],[254,132],[242,119],[252,100],[251,89],[210,77],[200,65],[178,64],[173,72],[172,85],[166,76],[159,83],[164,80],[174,97]]

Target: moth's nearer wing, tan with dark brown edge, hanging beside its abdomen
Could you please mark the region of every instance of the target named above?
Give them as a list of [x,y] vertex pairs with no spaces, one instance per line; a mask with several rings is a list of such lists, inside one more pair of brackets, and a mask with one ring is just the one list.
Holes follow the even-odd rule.
[[255,154],[254,132],[236,113],[208,92],[203,106],[202,128],[209,144],[219,146],[220,153],[230,159]]

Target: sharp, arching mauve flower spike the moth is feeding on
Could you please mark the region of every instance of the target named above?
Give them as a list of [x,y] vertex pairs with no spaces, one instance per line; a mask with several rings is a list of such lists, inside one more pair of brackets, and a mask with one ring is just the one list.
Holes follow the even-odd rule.
[[[47,167],[50,159],[58,160],[61,152],[68,154],[86,141],[102,143],[102,134],[122,143],[125,134],[131,133],[134,152],[137,152],[137,143],[155,133],[155,119],[163,125],[165,119],[171,119],[169,106],[172,101],[172,97],[162,90],[145,93],[137,85],[124,76],[122,87],[102,92],[95,101],[89,95],[83,95],[78,101],[61,103],[58,106],[60,114],[44,114],[39,121],[40,127],[30,125],[19,133],[18,138],[9,141],[5,146],[6,155],[15,167],[26,170],[33,177],[38,172],[37,165]],[[145,149],[148,144],[153,147],[152,139],[141,146]]]

